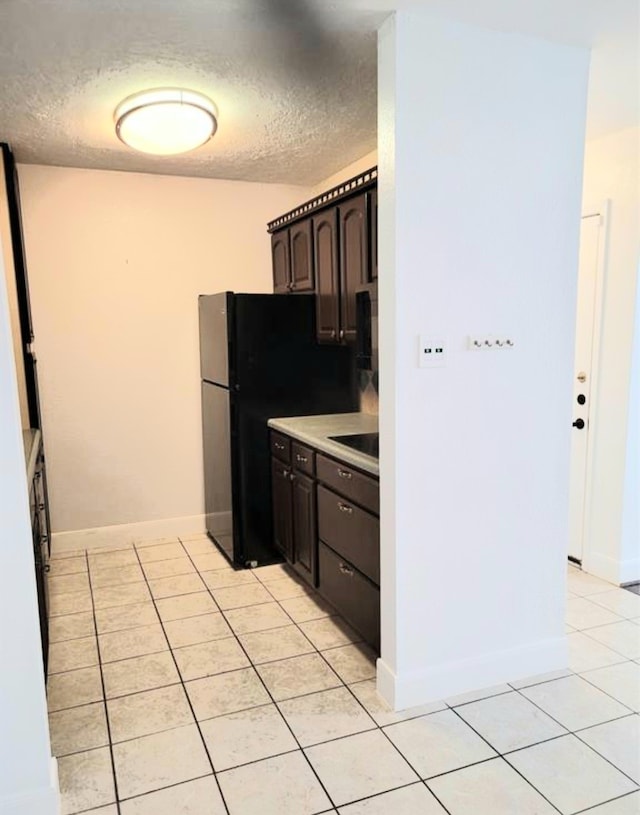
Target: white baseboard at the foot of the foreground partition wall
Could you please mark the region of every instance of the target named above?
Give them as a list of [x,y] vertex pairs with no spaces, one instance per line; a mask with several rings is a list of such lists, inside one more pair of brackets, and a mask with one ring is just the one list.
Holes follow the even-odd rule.
[[566,637],[511,648],[474,659],[396,674],[378,660],[378,693],[394,710],[439,702],[462,693],[527,679],[567,667]]

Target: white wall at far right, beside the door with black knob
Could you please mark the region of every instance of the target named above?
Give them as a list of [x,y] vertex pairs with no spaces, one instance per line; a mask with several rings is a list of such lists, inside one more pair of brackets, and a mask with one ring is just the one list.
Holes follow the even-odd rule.
[[583,565],[624,583],[640,580],[640,415],[637,402],[630,411],[629,401],[640,251],[640,128],[587,142],[583,211],[598,211],[606,199],[611,204],[596,423],[591,432],[593,499]]

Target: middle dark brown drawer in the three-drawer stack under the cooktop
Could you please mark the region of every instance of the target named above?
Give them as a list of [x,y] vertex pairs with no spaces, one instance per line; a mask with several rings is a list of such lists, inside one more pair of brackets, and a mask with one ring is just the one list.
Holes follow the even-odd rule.
[[375,515],[318,487],[318,536],[380,584],[380,521]]

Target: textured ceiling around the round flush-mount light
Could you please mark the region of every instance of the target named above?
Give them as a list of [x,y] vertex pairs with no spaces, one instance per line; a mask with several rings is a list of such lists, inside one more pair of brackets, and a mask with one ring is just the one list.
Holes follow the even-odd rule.
[[[593,46],[588,135],[638,124],[637,0],[305,1],[332,43],[312,58],[274,0],[0,0],[0,140],[26,163],[312,185],[375,149],[376,30],[411,6]],[[183,156],[131,151],[113,110],[167,85],[210,96],[218,133]]]

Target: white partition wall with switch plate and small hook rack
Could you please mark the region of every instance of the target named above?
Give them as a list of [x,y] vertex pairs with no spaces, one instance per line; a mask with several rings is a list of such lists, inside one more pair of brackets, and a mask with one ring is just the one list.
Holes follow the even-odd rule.
[[[566,664],[587,75],[587,52],[426,12],[380,34],[378,686],[396,707]],[[466,350],[501,332],[513,350]],[[417,367],[421,333],[446,367]]]

